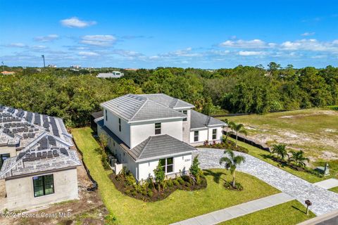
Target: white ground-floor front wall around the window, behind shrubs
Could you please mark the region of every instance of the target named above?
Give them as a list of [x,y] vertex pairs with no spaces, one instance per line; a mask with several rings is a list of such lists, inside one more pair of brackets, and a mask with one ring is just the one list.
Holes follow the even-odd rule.
[[[169,158],[169,157],[167,157]],[[170,174],[177,174],[180,172],[188,172],[189,168],[192,166],[192,154],[177,155],[174,157],[174,169]],[[142,179],[146,180],[149,176],[154,177],[154,169],[156,169],[159,160],[150,160],[145,162],[139,162],[139,181]],[[170,176],[170,174],[166,174]]]

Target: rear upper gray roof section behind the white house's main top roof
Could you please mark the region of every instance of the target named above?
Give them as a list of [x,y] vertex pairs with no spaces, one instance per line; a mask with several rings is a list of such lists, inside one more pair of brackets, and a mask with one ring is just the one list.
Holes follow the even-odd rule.
[[185,101],[182,101],[178,98],[173,98],[166,94],[139,94],[139,96],[144,96],[146,98],[149,98],[151,101],[154,101],[161,105],[165,105],[166,107],[173,108],[173,109],[194,108],[194,105],[187,103]]

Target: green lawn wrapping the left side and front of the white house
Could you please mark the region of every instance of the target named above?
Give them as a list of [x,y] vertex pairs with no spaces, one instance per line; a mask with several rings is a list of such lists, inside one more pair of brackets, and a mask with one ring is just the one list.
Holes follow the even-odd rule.
[[[175,191],[165,200],[144,203],[115,189],[108,178],[112,171],[104,170],[101,157],[94,150],[99,145],[92,137],[92,129],[73,129],[72,134],[77,147],[83,153],[84,162],[99,184],[99,193],[104,204],[117,218],[116,224],[170,224],[280,192],[263,181],[240,172],[237,172],[237,181],[244,186],[244,191],[229,191],[223,187],[224,179],[231,179],[229,172],[225,169],[211,169],[206,171],[206,189]],[[283,213],[288,212],[289,210]]]

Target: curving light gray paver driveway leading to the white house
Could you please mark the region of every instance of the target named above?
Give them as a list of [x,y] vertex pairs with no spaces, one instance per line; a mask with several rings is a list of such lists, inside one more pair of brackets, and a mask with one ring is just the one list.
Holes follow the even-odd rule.
[[[193,156],[199,155],[202,169],[221,168],[219,162],[224,155],[223,151],[214,148],[199,148],[199,150],[194,151]],[[256,176],[258,179],[296,198],[300,203],[304,204],[305,200],[311,200],[313,205],[310,209],[316,215],[338,210],[338,193],[315,186],[251,155],[234,153],[243,155],[246,160],[244,164],[237,167],[238,171]]]

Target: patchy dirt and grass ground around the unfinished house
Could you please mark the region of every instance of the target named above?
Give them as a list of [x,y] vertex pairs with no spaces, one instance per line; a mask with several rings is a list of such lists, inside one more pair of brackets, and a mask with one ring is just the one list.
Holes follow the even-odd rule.
[[[79,157],[81,155],[79,154]],[[29,210],[29,214],[58,214],[65,213],[66,217],[60,218],[0,218],[1,225],[12,224],[104,224],[104,217],[108,214],[106,207],[101,201],[99,193],[87,191],[92,186],[83,165],[77,168],[79,197],[80,200],[71,200],[63,203],[56,203],[47,207]],[[0,194],[4,190],[4,184],[0,183]],[[0,203],[1,203],[0,198]],[[68,217],[68,213],[70,217]]]

